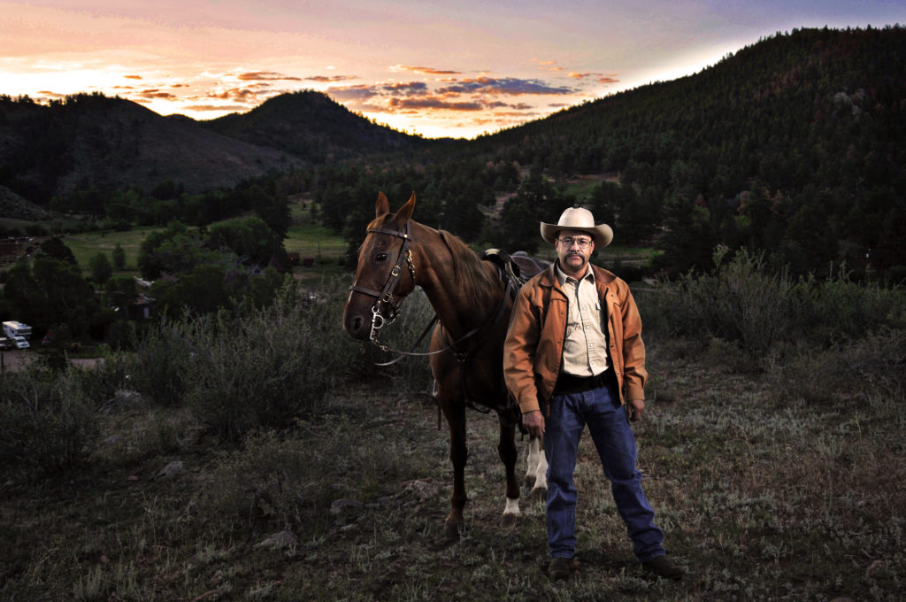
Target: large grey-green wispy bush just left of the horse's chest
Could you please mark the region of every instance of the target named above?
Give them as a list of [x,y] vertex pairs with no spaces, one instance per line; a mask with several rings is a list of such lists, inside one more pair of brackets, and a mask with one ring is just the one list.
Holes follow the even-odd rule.
[[352,356],[341,312],[335,292],[311,299],[288,281],[272,306],[247,316],[221,312],[194,319],[189,409],[230,441],[317,413],[324,395],[344,380]]

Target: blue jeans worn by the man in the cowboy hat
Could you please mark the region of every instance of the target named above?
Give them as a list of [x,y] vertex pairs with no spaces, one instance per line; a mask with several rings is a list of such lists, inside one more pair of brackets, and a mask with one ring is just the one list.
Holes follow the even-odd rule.
[[552,558],[573,558],[576,453],[585,425],[592,433],[604,475],[611,481],[613,501],[640,562],[663,555],[664,533],[654,524],[654,510],[641,490],[636,468],[635,437],[616,386],[584,393],[554,394],[545,418],[547,456],[547,543]]

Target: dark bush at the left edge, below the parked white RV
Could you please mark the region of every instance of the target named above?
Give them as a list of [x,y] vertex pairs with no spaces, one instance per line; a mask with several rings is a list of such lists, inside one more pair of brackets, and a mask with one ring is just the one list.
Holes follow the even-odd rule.
[[71,376],[30,367],[0,374],[0,466],[61,474],[96,442],[95,406]]

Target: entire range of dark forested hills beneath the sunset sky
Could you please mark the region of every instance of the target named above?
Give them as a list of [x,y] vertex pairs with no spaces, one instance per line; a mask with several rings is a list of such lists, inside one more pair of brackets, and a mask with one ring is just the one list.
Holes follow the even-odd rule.
[[254,208],[259,192],[268,207],[306,195],[353,251],[378,190],[398,202],[415,190],[423,223],[533,250],[539,218],[581,203],[615,244],[660,249],[652,267],[673,274],[723,245],[795,274],[845,261],[903,277],[904,146],[899,25],[776,34],[700,73],[474,141],[392,131],[319,92],[206,123],[97,96],[0,99],[0,185],[55,196],[53,209],[204,225]]

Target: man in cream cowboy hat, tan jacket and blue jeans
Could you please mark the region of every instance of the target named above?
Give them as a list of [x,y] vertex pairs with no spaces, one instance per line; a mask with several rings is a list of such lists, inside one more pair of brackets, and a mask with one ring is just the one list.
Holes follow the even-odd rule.
[[663,532],[641,490],[629,421],[645,410],[645,345],[641,317],[629,286],[592,266],[595,246],[610,244],[609,226],[594,225],[588,209],[566,209],[554,224],[541,224],[557,260],[522,287],[504,345],[506,386],[516,397],[530,434],[545,437],[547,456],[548,573],[573,573],[573,486],[579,439],[587,425],[613,500],[626,523],[642,568],[679,579],[667,558]]

